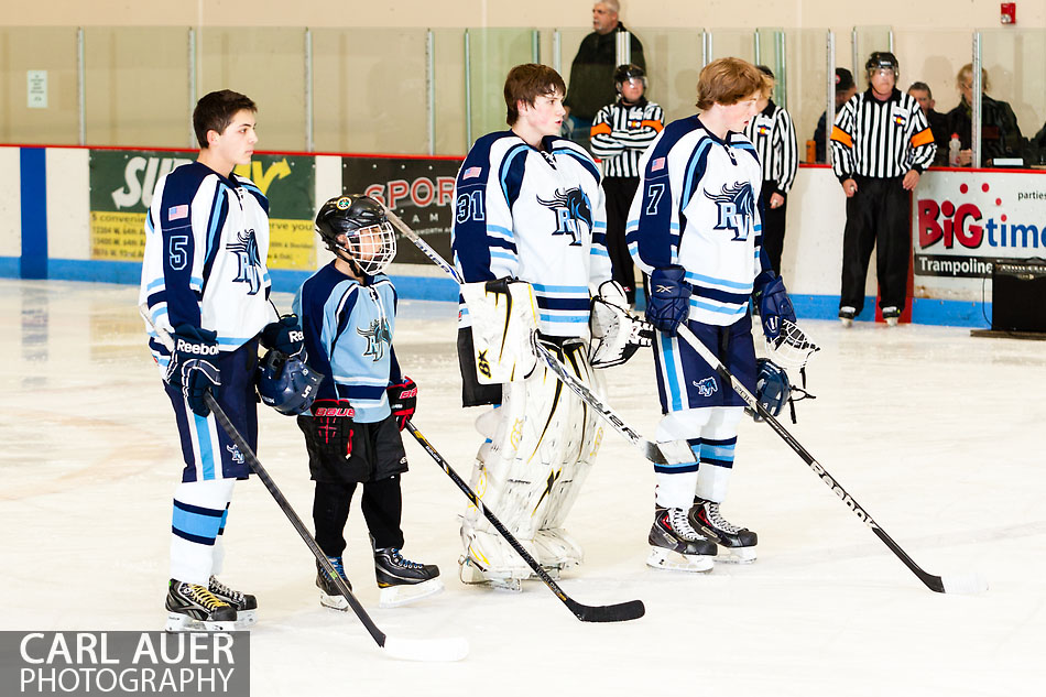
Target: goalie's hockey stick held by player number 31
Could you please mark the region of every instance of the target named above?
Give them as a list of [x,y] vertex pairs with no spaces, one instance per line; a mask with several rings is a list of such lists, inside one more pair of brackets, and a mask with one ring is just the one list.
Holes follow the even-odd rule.
[[[428,242],[423,240],[417,236],[417,233],[412,230],[403,220],[400,219],[396,214],[392,213],[388,207],[385,208],[385,216],[389,220],[392,221],[392,225],[403,233],[403,237],[407,238],[422,251],[423,254],[428,257],[433,263],[443,269],[451,279],[457,281],[459,284],[462,282],[461,276],[458,275],[457,269],[451,266],[447,261],[439,255],[439,252],[434,250]],[[623,418],[621,418],[609,405],[607,405],[602,400],[592,394],[591,390],[585,386],[580,380],[570,374],[570,371],[559,361],[559,359],[552,353],[548,349],[542,346],[535,336],[531,337],[531,348],[541,358],[549,369],[556,374],[560,382],[566,384],[570,390],[577,394],[582,402],[592,407],[597,414],[602,416],[607,423],[613,426],[613,429],[624,436],[632,445],[634,445],[640,453],[643,454],[647,460],[654,462],[655,465],[678,465],[682,462],[693,462],[694,453],[690,450],[690,446],[687,445],[686,440],[669,440],[665,443],[654,443],[653,440],[647,440],[643,438],[634,428],[629,426]]]

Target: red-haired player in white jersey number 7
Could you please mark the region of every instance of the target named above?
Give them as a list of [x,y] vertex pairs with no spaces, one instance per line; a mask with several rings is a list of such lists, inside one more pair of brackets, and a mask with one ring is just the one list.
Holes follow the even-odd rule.
[[680,340],[680,324],[713,350],[749,390],[756,363],[749,297],[760,304],[767,338],[795,320],[784,285],[762,253],[762,173],[741,131],[755,116],[762,74],[738,58],[701,70],[700,116],[674,121],[640,163],[626,239],[650,274],[646,318],[654,339],[662,418],[658,440],[686,439],[690,462],[655,466],[654,524],[647,564],[707,571],[717,544],[731,560],[755,558],[755,533],[719,512],[733,467],[744,402]]

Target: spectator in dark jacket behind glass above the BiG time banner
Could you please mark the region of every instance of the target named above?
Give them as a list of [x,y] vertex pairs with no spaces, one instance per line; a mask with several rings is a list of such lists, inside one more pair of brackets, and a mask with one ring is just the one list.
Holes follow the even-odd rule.
[[[973,162],[973,64],[967,63],[956,75],[959,88],[959,105],[948,112],[948,130],[959,134],[959,165],[969,166]],[[1005,101],[988,96],[991,85],[988,70],[981,68],[981,160],[984,166],[992,166],[996,157],[1020,157],[1024,152],[1025,140],[1017,126],[1017,117]],[[950,138],[950,133],[949,133]]]

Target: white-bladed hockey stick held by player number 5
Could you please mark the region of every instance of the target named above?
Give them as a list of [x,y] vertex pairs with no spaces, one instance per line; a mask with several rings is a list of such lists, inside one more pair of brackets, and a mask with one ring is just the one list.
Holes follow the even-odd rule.
[[[141,312],[142,317],[145,318],[145,322],[153,328],[156,333],[160,341],[167,347],[167,350],[173,350],[174,340],[171,335],[163,328],[157,327],[152,317],[149,315],[149,308],[142,304],[139,306],[139,312]],[[316,540],[308,532],[308,529],[305,526],[305,523],[302,522],[302,519],[291,507],[291,502],[287,501],[287,498],[283,495],[283,492],[280,491],[280,488],[276,486],[276,482],[272,480],[272,477],[269,476],[269,472],[258,460],[258,457],[254,455],[254,451],[248,445],[247,440],[243,439],[243,436],[240,435],[240,432],[237,431],[236,426],[229,421],[229,417],[226,415],[225,410],[218,404],[218,401],[214,397],[210,391],[207,391],[204,394],[204,402],[215,414],[215,418],[221,425],[221,428],[228,434],[229,438],[236,444],[236,447],[239,448],[240,454],[250,465],[251,469],[258,475],[258,478],[265,484],[265,488],[269,489],[269,493],[272,494],[272,498],[275,499],[276,505],[286,514],[287,520],[291,521],[291,525],[294,526],[294,530],[301,535],[302,540],[305,541],[305,544],[308,546],[308,551],[313,553],[313,556],[316,557],[316,562],[324,569],[326,574],[338,587],[338,591],[345,596],[345,599],[348,601],[349,607],[352,608],[352,611],[356,612],[356,617],[360,619],[360,622],[363,623],[363,627],[367,628],[368,633],[373,638],[374,642],[384,649],[390,656],[394,658],[403,658],[406,661],[460,661],[468,655],[469,646],[468,642],[461,638],[453,639],[396,639],[394,636],[389,636],[374,624],[373,620],[370,619],[370,616],[367,614],[367,610],[363,609],[363,606],[360,605],[360,601],[357,600],[356,596],[352,595],[352,591],[349,589],[349,585],[341,578],[341,575],[335,570],[334,566],[327,560],[327,555],[324,554],[323,549],[319,548],[319,545],[316,544]]]

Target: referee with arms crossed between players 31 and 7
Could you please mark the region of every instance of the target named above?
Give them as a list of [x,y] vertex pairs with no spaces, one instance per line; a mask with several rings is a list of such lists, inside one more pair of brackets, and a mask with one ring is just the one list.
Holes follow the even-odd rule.
[[661,107],[644,97],[646,73],[638,65],[619,65],[613,74],[618,100],[607,105],[592,121],[592,153],[602,160],[607,198],[607,251],[611,274],[635,303],[635,270],[624,224],[640,185],[640,157],[665,128]]

